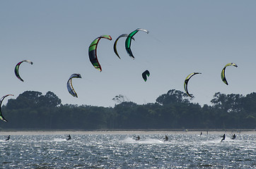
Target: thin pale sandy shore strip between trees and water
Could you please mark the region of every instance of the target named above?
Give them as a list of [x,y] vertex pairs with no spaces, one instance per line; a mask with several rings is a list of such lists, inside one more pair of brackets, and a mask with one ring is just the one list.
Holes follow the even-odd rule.
[[[138,131],[11,131],[11,132],[0,132],[0,135],[44,135],[44,134],[207,134],[204,130],[198,131],[149,131],[149,130],[138,130]],[[256,131],[209,131],[208,134],[256,134]]]

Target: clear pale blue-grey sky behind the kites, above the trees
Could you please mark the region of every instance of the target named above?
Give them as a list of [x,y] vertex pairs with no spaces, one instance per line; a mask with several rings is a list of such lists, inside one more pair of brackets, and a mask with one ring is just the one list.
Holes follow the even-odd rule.
[[[0,0],[0,95],[25,91],[51,91],[62,104],[115,106],[112,99],[122,94],[136,104],[155,103],[170,89],[184,91],[187,75],[195,75],[188,90],[192,102],[211,104],[216,92],[255,92],[256,1],[83,1]],[[133,60],[115,39],[137,28],[132,42]],[[88,46],[100,35],[95,69],[88,58]],[[20,75],[14,74],[19,61]],[[226,63],[228,85],[221,81]],[[141,77],[149,70],[146,82]],[[71,96],[66,82],[72,80],[78,98]],[[7,99],[6,99],[7,100]],[[5,101],[4,104],[6,104]]]

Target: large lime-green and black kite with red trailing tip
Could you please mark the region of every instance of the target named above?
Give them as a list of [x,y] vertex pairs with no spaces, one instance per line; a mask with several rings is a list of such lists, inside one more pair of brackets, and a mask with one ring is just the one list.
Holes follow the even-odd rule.
[[112,40],[112,37],[110,37],[110,35],[101,35],[100,37],[97,37],[89,46],[90,61],[93,64],[94,68],[100,70],[100,72],[102,71],[102,69],[97,57],[97,46],[101,38]]

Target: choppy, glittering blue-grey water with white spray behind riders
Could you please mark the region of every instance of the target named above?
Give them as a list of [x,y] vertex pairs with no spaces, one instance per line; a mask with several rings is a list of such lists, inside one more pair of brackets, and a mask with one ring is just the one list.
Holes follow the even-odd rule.
[[[156,132],[157,133],[157,132]],[[0,136],[0,168],[256,168],[256,134]]]

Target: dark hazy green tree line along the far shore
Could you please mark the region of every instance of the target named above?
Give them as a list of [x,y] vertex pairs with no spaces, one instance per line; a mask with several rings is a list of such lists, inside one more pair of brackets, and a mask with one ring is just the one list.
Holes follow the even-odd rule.
[[8,123],[0,130],[255,129],[256,93],[221,94],[211,106],[194,104],[184,92],[170,89],[155,103],[139,105],[113,98],[114,107],[62,104],[53,92],[26,91],[1,107]]

